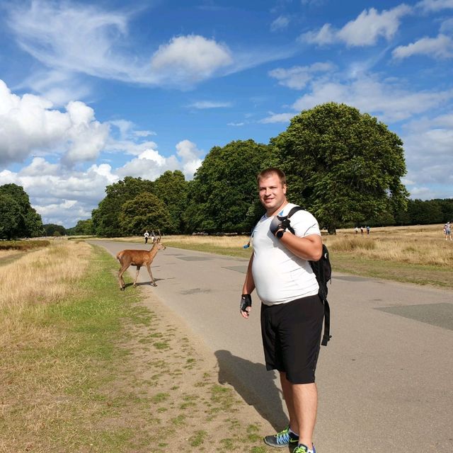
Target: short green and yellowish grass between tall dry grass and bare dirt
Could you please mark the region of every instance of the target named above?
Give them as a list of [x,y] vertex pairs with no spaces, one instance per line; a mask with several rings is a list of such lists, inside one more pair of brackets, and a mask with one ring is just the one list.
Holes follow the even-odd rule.
[[[76,296],[23,311],[23,323],[49,332],[49,341],[11,338],[13,354],[2,357],[1,376],[8,395],[0,413],[0,432],[14,432],[5,451],[129,452],[145,413],[146,401],[117,387],[130,351],[125,323],[146,323],[139,293],[120,293],[111,272],[113,259],[96,248]],[[2,384],[0,384],[2,385]],[[142,434],[140,442],[147,442]],[[132,442],[133,443],[133,442]],[[70,446],[70,448],[69,448]]]

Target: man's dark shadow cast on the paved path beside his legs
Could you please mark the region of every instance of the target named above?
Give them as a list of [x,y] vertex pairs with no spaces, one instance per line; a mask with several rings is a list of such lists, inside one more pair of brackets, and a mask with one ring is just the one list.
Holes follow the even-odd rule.
[[214,352],[219,364],[219,383],[227,382],[248,405],[279,431],[287,425],[288,418],[283,411],[282,391],[276,385],[277,376],[265,365],[253,363],[232,355],[226,350]]

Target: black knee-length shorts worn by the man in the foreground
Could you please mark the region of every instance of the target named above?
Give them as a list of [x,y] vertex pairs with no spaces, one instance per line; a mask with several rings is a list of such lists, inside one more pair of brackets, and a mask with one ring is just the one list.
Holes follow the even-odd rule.
[[319,296],[286,304],[261,304],[261,333],[267,369],[285,372],[292,384],[314,382],[323,328]]

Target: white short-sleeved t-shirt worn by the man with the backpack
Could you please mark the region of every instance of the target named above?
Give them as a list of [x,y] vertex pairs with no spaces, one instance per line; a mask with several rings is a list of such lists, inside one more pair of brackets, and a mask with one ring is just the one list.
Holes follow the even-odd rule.
[[[294,206],[289,203],[278,215],[287,215]],[[253,229],[252,275],[258,297],[263,304],[273,305],[318,294],[319,285],[308,260],[295,256],[270,232],[272,219],[264,214]],[[321,236],[318,222],[309,212],[297,211],[290,221],[296,236]]]

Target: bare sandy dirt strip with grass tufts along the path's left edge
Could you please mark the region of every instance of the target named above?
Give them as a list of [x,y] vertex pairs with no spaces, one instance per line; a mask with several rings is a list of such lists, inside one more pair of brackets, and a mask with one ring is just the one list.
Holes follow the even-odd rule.
[[149,312],[144,322],[130,326],[123,346],[132,357],[124,379],[111,387],[117,394],[115,388],[124,393],[129,386],[130,398],[140,401],[128,414],[142,418],[130,451],[268,451],[262,436],[273,432],[270,424],[232,386],[219,383],[217,360],[183,319],[151,291],[144,289],[144,294],[142,304]]

